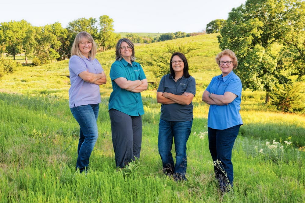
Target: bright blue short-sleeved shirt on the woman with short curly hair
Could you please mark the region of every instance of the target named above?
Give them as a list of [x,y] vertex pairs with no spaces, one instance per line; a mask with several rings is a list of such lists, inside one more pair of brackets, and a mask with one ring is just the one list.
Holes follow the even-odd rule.
[[213,77],[206,90],[218,95],[224,95],[225,92],[231,92],[237,95],[237,97],[228,105],[210,105],[208,127],[224,130],[235,125],[243,124],[242,118],[239,114],[242,96],[242,82],[233,71],[225,77],[222,77],[222,74]]

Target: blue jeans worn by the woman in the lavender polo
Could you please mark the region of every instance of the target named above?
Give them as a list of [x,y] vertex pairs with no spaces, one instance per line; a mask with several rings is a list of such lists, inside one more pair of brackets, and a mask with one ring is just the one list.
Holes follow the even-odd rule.
[[80,172],[88,169],[89,158],[98,138],[97,117],[99,104],[88,104],[70,108],[75,120],[80,126],[77,147],[76,169]]

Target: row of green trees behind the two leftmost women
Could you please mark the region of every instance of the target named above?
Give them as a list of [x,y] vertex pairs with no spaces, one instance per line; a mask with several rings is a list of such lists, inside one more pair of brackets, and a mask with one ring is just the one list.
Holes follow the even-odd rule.
[[[99,27],[96,26],[98,23]],[[45,26],[32,26],[26,20],[3,22],[0,24],[0,51],[13,56],[25,54],[33,58],[35,65],[70,57],[73,40],[80,31],[87,31],[94,37],[100,51],[115,46],[120,35],[114,33],[113,19],[109,16],[79,18],[63,28],[56,22]]]

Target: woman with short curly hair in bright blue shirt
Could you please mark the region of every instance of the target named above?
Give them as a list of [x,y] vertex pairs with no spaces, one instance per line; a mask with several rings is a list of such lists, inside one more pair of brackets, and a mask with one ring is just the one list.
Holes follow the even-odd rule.
[[[213,77],[202,100],[210,104],[208,115],[209,148],[215,177],[223,192],[233,187],[232,148],[242,125],[239,114],[242,83],[232,70],[237,68],[237,58],[233,51],[226,49],[216,56],[222,74]],[[221,164],[217,164],[217,160]],[[220,168],[221,167],[221,168]],[[224,173],[225,172],[225,173]]]

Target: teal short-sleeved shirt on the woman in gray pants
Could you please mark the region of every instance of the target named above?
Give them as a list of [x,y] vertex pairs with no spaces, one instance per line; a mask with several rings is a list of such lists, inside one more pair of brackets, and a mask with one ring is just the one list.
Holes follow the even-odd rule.
[[128,63],[124,58],[114,61],[110,68],[112,93],[109,98],[108,109],[116,109],[130,116],[141,116],[144,114],[141,93],[134,93],[121,89],[114,79],[123,77],[127,80],[146,79],[143,68],[135,61]]

